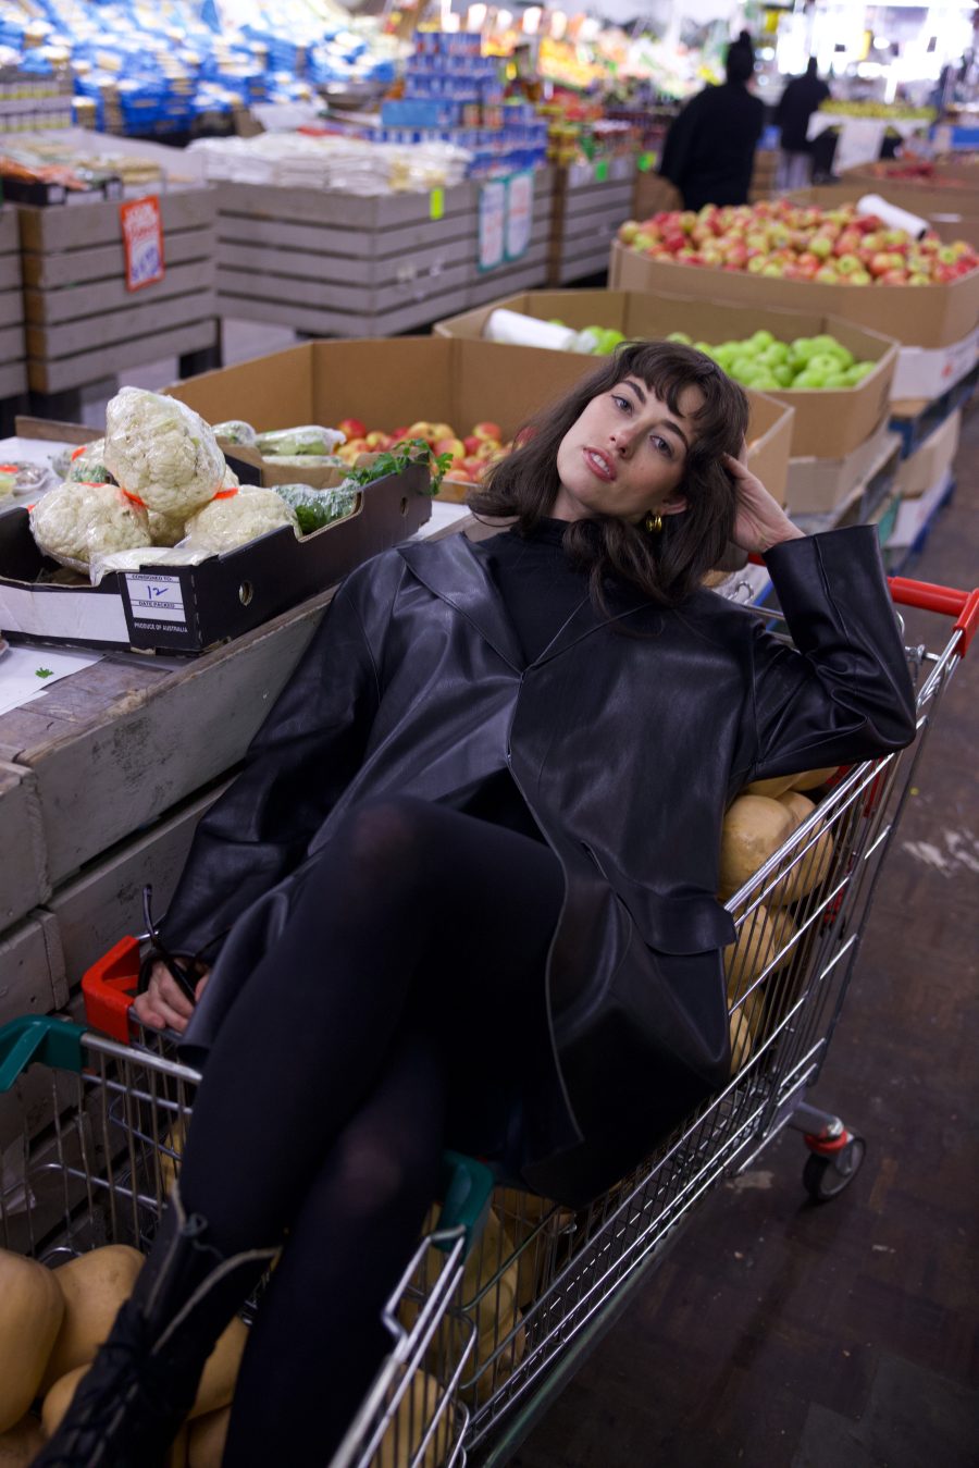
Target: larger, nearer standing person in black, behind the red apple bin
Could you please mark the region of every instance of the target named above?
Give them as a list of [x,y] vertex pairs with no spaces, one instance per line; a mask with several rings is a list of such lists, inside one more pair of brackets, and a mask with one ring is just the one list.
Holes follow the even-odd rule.
[[674,120],[659,172],[683,194],[684,208],[747,204],[765,104],[747,84],[754,51],[747,32],[728,47],[727,81],[705,87]]

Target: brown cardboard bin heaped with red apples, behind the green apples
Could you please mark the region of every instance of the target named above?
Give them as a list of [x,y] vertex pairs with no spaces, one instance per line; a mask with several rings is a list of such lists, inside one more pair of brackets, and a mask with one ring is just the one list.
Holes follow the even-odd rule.
[[[696,280],[690,280],[694,275]],[[906,346],[950,346],[979,324],[979,270],[950,285],[820,285],[782,280],[747,270],[681,266],[612,245],[609,285],[615,291],[683,295],[697,289],[716,301],[841,316]]]

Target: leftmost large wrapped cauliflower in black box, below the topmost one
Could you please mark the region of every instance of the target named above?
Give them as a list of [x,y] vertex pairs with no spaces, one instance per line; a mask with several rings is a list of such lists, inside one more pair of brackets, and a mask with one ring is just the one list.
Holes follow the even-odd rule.
[[31,511],[31,530],[46,555],[76,571],[94,555],[150,545],[145,509],[117,484],[59,484]]

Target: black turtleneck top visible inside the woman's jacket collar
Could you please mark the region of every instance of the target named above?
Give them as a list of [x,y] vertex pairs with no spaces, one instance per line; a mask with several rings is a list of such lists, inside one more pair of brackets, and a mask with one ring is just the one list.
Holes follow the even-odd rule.
[[564,550],[567,528],[567,520],[539,520],[528,536],[511,527],[474,546],[486,561],[528,664],[553,642],[589,595],[587,573],[577,571]]

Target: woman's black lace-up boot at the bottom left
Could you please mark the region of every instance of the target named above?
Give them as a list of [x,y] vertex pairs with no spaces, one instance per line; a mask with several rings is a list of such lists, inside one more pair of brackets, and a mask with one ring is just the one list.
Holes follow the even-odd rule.
[[35,1468],[157,1468],[230,1318],[276,1257],[226,1257],[207,1220],[170,1193],[153,1249],[112,1333]]

